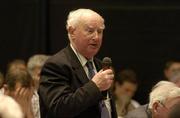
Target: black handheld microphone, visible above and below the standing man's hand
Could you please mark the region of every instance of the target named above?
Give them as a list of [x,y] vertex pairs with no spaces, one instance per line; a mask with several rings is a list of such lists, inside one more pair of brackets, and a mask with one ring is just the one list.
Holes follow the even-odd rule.
[[[103,60],[102,60],[102,69],[103,69],[103,71],[109,69],[111,66],[112,66],[111,58],[104,57]],[[103,100],[107,99],[107,92],[108,92],[108,90],[102,91]]]

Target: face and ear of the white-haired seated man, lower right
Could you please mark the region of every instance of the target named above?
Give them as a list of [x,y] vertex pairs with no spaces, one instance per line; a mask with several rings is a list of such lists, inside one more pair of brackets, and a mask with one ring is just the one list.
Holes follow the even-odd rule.
[[180,97],[169,98],[165,103],[157,103],[157,107],[154,107],[153,116],[154,118],[168,118],[171,109],[175,104],[180,103]]

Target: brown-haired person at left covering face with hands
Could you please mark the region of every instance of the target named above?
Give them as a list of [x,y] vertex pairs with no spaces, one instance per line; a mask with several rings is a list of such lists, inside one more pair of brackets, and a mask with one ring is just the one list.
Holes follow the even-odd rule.
[[26,69],[10,68],[5,76],[2,93],[11,96],[21,106],[26,118],[33,114],[33,81]]

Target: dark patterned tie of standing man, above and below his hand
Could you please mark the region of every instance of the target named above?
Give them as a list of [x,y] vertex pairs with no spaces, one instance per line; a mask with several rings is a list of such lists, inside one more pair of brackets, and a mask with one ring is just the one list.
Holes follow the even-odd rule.
[[[95,75],[95,71],[94,71],[94,67],[93,67],[92,61],[87,61],[86,66],[88,68],[89,79],[92,79],[93,76]],[[105,105],[103,100],[99,102],[99,107],[100,107],[100,110],[101,110],[101,118],[111,118],[109,116],[108,109],[107,109],[107,107],[106,107],[106,105]]]

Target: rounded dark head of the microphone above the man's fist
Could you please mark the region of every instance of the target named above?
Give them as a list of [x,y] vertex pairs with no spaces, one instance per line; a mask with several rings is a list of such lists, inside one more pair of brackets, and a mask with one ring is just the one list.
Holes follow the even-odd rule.
[[109,57],[104,57],[102,60],[103,70],[109,69],[112,66],[112,60]]

